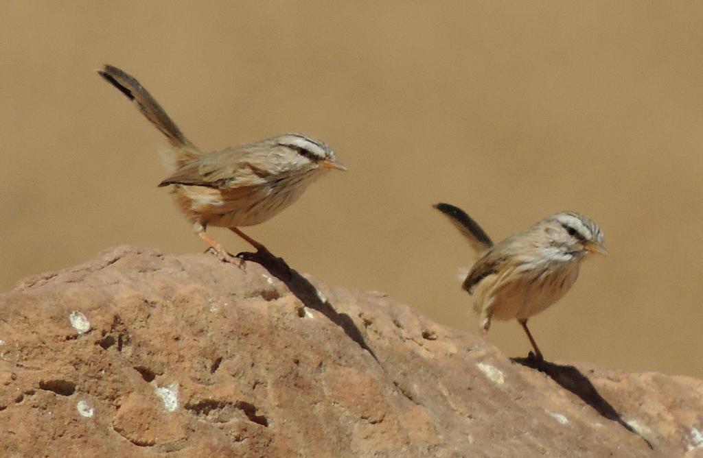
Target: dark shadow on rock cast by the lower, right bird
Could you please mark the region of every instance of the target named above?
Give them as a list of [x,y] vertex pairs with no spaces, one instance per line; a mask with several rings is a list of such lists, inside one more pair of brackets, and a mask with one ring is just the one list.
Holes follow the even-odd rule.
[[530,352],[527,358],[511,358],[513,362],[517,362],[526,367],[537,369],[539,372],[547,374],[553,381],[557,382],[562,388],[565,388],[575,395],[579,396],[584,403],[590,405],[596,412],[603,417],[617,421],[623,428],[631,433],[637,434],[642,438],[650,449],[654,450],[652,443],[647,438],[638,433],[632,426],[627,424],[615,408],[605,400],[595,386],[588,380],[588,377],[581,374],[579,369],[574,366],[560,366],[548,361],[538,361]]

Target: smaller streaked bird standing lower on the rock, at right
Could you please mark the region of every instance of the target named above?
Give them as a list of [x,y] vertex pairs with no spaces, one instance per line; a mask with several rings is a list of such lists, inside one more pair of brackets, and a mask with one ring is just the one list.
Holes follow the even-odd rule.
[[487,336],[494,318],[515,319],[527,334],[534,358],[543,362],[527,320],[571,289],[586,256],[607,254],[598,225],[583,214],[561,211],[494,244],[462,209],[445,203],[434,208],[449,218],[478,255],[462,288],[472,296],[482,336]]

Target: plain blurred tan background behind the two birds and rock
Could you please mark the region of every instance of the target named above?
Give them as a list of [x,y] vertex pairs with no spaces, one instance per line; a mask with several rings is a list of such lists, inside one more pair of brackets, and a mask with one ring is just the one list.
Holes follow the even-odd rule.
[[[531,320],[550,360],[703,377],[703,4],[4,2],[0,289],[117,244],[202,251],[165,145],[93,70],[136,75],[206,150],[302,131],[349,167],[249,228],[333,285],[475,332],[470,247],[573,209],[611,255]],[[228,231],[230,249],[248,247]],[[529,343],[516,322],[490,339]]]

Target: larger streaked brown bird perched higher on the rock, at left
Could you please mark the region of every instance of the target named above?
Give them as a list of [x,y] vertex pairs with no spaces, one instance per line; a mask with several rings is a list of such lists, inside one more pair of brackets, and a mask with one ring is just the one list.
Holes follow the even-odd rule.
[[231,261],[232,256],[205,232],[209,226],[228,228],[257,251],[268,251],[239,228],[263,223],[280,213],[327,171],[347,170],[328,145],[302,133],[203,152],[131,74],[112,65],[97,72],[166,136],[170,176],[159,186],[171,187],[195,233],[222,261]]

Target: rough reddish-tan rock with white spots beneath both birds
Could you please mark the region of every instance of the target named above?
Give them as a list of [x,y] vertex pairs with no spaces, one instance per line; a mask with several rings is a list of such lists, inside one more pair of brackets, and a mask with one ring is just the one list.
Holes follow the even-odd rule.
[[0,456],[703,457],[703,381],[540,372],[283,279],[118,247],[0,295]]

